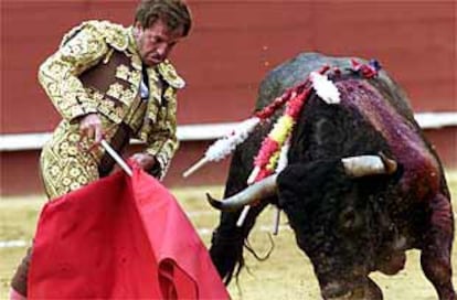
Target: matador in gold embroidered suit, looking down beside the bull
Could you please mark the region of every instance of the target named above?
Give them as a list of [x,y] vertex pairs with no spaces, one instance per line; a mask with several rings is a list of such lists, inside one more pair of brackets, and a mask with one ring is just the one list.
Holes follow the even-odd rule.
[[[145,144],[132,159],[162,179],[178,148],[177,92],[184,81],[168,56],[188,35],[181,0],[141,0],[132,26],[87,21],[64,35],[39,69],[39,81],[62,121],[43,147],[40,167],[49,199],[108,175],[131,138]],[[10,299],[25,299],[31,249],[19,266]]]

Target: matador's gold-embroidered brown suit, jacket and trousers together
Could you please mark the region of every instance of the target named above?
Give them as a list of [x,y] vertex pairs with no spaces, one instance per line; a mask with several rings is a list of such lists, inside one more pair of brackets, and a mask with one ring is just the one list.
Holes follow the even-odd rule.
[[176,96],[184,82],[169,61],[144,67],[131,29],[107,21],[83,23],[41,65],[39,79],[63,117],[40,160],[51,199],[113,169],[104,149],[79,133],[77,119],[89,113],[100,116],[104,138],[115,150],[121,151],[130,137],[144,141],[158,162],[150,172],[163,178],[178,148]]

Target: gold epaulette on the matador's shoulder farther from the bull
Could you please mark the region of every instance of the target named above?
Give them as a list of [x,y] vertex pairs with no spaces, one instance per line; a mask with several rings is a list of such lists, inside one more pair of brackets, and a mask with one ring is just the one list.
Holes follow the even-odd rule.
[[86,21],[86,22],[81,23],[78,26],[73,28],[62,39],[61,46],[64,45],[68,40],[71,40],[74,35],[76,35],[83,29],[95,30],[103,36],[106,43],[108,43],[110,46],[113,46],[117,51],[125,51],[128,46],[128,34],[127,34],[126,28],[119,24],[111,23],[109,21],[96,21],[96,20]]

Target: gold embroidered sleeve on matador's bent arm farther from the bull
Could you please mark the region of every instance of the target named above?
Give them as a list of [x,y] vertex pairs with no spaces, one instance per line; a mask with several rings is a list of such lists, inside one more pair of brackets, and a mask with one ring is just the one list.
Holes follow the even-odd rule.
[[68,121],[96,113],[78,75],[96,65],[108,53],[104,36],[95,26],[83,23],[65,35],[61,47],[39,69],[39,81],[63,118]]

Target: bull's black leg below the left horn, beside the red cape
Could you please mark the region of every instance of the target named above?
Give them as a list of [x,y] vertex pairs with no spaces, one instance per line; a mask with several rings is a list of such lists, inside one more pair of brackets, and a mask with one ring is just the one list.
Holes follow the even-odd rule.
[[235,272],[235,275],[237,275],[244,266],[244,242],[251,229],[254,227],[258,214],[267,204],[267,202],[262,202],[252,206],[241,227],[236,225],[236,222],[242,210],[231,213],[224,212],[221,214],[221,222],[217,228],[213,232],[213,237],[211,239],[210,255],[225,285],[228,285],[233,274]]

